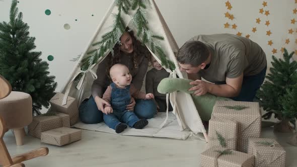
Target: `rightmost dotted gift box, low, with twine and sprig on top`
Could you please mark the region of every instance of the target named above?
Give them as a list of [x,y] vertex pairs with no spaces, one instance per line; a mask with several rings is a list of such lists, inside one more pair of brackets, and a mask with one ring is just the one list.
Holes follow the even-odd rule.
[[255,166],[285,166],[285,150],[274,139],[249,138],[248,153],[255,155]]

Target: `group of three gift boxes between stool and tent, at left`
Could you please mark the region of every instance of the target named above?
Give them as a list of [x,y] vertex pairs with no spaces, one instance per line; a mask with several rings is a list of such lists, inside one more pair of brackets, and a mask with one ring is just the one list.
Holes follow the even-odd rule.
[[62,105],[64,95],[57,93],[51,100],[51,111],[44,115],[34,116],[28,125],[28,133],[41,139],[41,142],[53,145],[65,145],[81,139],[82,130],[70,126],[79,121],[78,102],[67,97]]

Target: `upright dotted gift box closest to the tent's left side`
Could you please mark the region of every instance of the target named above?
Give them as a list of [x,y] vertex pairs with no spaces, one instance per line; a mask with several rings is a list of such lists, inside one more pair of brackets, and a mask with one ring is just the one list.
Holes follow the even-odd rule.
[[78,101],[68,96],[66,105],[62,105],[63,97],[64,94],[56,93],[49,103],[53,111],[68,114],[70,117],[70,125],[72,126],[79,121]]

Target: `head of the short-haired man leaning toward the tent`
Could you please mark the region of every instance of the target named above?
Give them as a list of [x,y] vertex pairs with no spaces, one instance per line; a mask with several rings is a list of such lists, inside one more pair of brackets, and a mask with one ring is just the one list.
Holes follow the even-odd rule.
[[209,49],[204,43],[188,41],[179,49],[176,58],[181,66],[181,71],[197,73],[200,69],[205,68],[205,61],[209,55]]

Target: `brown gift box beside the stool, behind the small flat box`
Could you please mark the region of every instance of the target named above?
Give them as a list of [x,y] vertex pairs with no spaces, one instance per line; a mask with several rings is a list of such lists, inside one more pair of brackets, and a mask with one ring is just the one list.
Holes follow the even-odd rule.
[[31,136],[40,138],[41,132],[59,127],[70,127],[69,115],[55,113],[53,116],[35,116],[33,121],[28,125],[28,133]]

